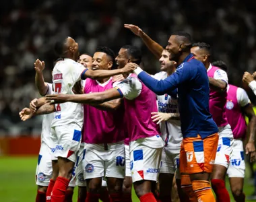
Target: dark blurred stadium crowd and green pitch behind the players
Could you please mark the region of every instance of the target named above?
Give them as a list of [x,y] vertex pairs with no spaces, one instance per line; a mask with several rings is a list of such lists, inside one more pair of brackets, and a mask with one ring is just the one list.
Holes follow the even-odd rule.
[[[51,81],[56,38],[72,36],[80,52],[90,54],[98,45],[109,46],[116,53],[123,44],[139,46],[143,67],[156,73],[158,61],[123,24],[139,26],[162,46],[171,32],[185,30],[195,41],[210,43],[212,60],[225,61],[230,83],[243,86],[243,72],[256,70],[255,10],[256,1],[251,0],[1,0],[1,201],[34,201],[41,118],[22,123],[18,112],[38,97],[35,59],[45,61],[44,76]],[[245,89],[255,103],[255,96]],[[251,186],[245,180],[247,195],[253,191]]]

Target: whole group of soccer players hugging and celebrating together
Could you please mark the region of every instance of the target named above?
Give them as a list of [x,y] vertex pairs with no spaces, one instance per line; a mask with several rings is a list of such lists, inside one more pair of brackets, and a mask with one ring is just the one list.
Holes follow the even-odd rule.
[[[210,45],[193,44],[188,33],[173,33],[162,48],[137,26],[125,28],[159,59],[159,73],[139,67],[135,46],[122,46],[117,57],[106,46],[79,56],[71,37],[55,44],[53,83],[44,82],[44,62],[34,63],[43,97],[20,117],[44,114],[36,201],[72,201],[75,185],[77,201],[132,201],[133,185],[140,201],[166,202],[175,182],[181,202],[216,201],[212,189],[228,202],[226,174],[234,199],[245,201],[245,115],[245,152],[256,157],[256,116],[245,90],[228,84],[225,63],[210,63]],[[243,81],[256,94],[255,76]]]

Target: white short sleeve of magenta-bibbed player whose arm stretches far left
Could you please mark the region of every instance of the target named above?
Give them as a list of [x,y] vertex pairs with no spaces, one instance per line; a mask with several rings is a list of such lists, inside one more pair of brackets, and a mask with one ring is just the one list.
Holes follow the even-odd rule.
[[139,96],[142,90],[142,84],[139,79],[135,77],[127,77],[123,81],[117,84],[116,88],[119,88],[121,93],[127,100],[133,100]]

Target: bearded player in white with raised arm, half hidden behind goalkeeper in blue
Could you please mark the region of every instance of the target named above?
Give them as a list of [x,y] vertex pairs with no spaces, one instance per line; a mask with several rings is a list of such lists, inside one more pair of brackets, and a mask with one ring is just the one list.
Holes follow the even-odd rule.
[[[163,49],[160,44],[156,43],[139,27],[125,24],[125,28],[131,30],[134,34],[141,37],[146,46],[152,51],[160,61],[161,72],[156,73],[154,77],[158,80],[166,79],[176,70],[176,63],[169,60],[170,53]],[[162,53],[160,52],[162,50]],[[181,121],[179,119],[179,109],[177,95],[169,96],[165,94],[158,97],[158,112],[152,112],[154,116],[152,119],[160,123],[160,131],[162,139],[166,142],[162,151],[162,167],[160,169],[160,199],[161,201],[170,201],[172,180],[174,172],[177,172],[177,187],[179,198],[185,201],[184,195],[181,191],[181,176],[179,174],[179,154],[181,148],[182,134],[181,134]],[[175,119],[171,119],[175,116]],[[170,183],[171,182],[171,183]]]

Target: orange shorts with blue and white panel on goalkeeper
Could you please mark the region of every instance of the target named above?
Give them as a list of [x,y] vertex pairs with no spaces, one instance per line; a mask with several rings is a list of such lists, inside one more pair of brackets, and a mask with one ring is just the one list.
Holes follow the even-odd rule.
[[205,139],[201,139],[200,135],[183,139],[180,155],[181,173],[212,172],[218,140],[218,133],[210,135]]

